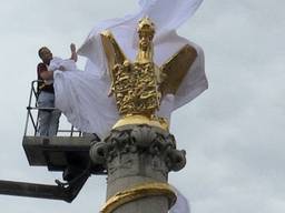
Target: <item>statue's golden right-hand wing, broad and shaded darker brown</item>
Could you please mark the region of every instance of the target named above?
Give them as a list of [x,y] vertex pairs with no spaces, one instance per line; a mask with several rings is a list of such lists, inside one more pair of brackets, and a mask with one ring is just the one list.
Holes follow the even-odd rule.
[[164,80],[159,89],[163,95],[177,92],[196,58],[197,51],[191,45],[186,44],[160,67]]

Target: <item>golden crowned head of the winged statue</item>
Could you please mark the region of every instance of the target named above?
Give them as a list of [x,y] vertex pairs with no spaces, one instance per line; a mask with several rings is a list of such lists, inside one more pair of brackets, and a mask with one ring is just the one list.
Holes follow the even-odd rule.
[[139,47],[146,51],[155,36],[155,24],[149,18],[142,18],[138,23]]

